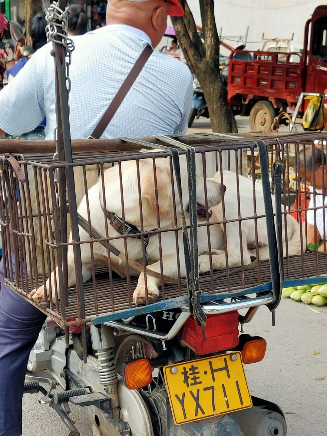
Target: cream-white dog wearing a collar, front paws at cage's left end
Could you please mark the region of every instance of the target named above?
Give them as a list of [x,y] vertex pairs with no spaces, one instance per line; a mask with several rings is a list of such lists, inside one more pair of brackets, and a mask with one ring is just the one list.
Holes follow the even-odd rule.
[[[184,211],[187,214],[188,208],[188,179],[187,179],[187,163],[186,157],[180,157],[181,165],[181,181],[182,181],[182,197],[184,202]],[[137,229],[141,230],[141,218],[140,218],[140,197],[142,200],[142,215],[143,215],[143,229],[144,232],[150,232],[159,227],[158,215],[160,218],[160,228],[168,229],[175,228],[174,222],[174,204],[172,195],[172,183],[170,174],[170,160],[169,158],[157,158],[155,160],[155,171],[157,177],[157,193],[154,185],[154,170],[153,170],[153,160],[152,159],[140,159],[139,160],[140,169],[140,194],[138,185],[138,174],[136,161],[124,161],[121,163],[121,176],[119,175],[119,165],[115,165],[104,172],[104,186],[105,186],[105,198],[106,198],[106,209],[111,214],[116,214],[116,216],[122,218],[122,197],[120,189],[120,177],[121,183],[123,185],[123,209],[125,214],[125,221],[132,224]],[[180,204],[178,200],[178,194],[176,189],[176,181],[174,183],[175,187],[175,202],[177,211],[178,225],[181,225],[181,211]],[[197,201],[198,201],[198,215],[204,216],[209,213],[205,204],[205,193],[204,193],[204,178],[201,176],[196,177],[197,186]],[[211,208],[215,204],[221,201],[224,193],[224,187],[218,181],[212,179],[206,179],[207,187],[207,206]],[[95,186],[89,189],[89,211],[90,211],[90,221],[92,226],[98,230],[102,235],[106,235],[106,221],[108,225],[108,234],[110,237],[119,237],[120,233],[116,231],[115,228],[110,225],[109,220],[106,216],[103,208],[102,201],[102,180],[101,176],[99,181]],[[159,212],[159,214],[157,213]],[[81,201],[78,207],[78,213],[82,217],[88,217],[87,214],[87,201],[86,196]],[[89,239],[89,233],[79,229],[80,240],[85,241]],[[184,249],[181,237],[181,232],[178,232],[178,246],[179,246],[179,257],[180,257],[180,268],[181,277],[185,277],[185,261],[184,261]],[[129,259],[142,262],[143,251],[142,242],[140,238],[130,237],[126,238],[127,252],[124,245],[124,239],[113,239],[111,244],[114,245],[121,252],[125,253]],[[72,235],[69,236],[69,241],[72,241]],[[162,250],[162,273],[166,276],[178,278],[178,268],[177,268],[177,249],[176,249],[176,236],[175,232],[163,232],[161,234],[161,250]],[[208,238],[206,229],[202,228],[199,232],[199,252],[205,252],[208,250]],[[160,273],[160,250],[159,250],[159,239],[158,235],[152,235],[149,238],[146,251],[149,258],[150,266],[147,270],[151,269],[153,271]],[[108,266],[108,252],[106,247],[101,245],[99,242],[93,243],[94,252],[94,262],[102,263]],[[92,276],[92,260],[90,252],[90,244],[81,244],[81,257],[82,257],[82,272],[83,272],[83,282],[88,280]],[[126,263],[119,259],[117,256],[110,254],[110,266],[111,269],[117,272],[120,276],[126,276]],[[132,270],[133,271],[133,270]],[[133,274],[138,274],[135,270]],[[56,274],[51,273],[51,291],[52,300],[55,301],[55,289],[59,290],[58,283],[55,283],[55,277],[58,281],[58,267],[56,268]],[[50,279],[46,282],[46,291],[49,298],[50,291]],[[159,295],[159,287],[161,285],[161,280],[157,279],[149,274],[146,275],[147,279],[147,292],[148,301],[153,302],[157,299]],[[75,266],[74,266],[74,254],[72,245],[68,247],[68,286],[73,286],[76,284],[75,277]],[[58,291],[59,293],[59,291]],[[44,299],[44,286],[34,289],[30,293],[31,298],[34,301],[40,301]],[[127,297],[127,296],[126,296]],[[140,273],[137,287],[133,293],[133,300],[136,304],[144,304],[146,300],[146,286],[143,272]]]

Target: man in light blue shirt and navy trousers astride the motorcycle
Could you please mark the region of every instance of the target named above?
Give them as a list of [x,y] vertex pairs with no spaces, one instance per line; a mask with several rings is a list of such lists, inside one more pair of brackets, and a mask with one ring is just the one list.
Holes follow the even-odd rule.
[[[92,133],[146,44],[155,47],[161,40],[167,14],[183,13],[177,0],[109,0],[108,26],[74,37],[69,96],[72,138],[87,138]],[[29,132],[46,116],[46,137],[53,138],[50,50],[47,44],[37,51],[0,92],[0,133]],[[184,133],[192,93],[187,66],[166,54],[153,53],[102,138]],[[45,315],[4,285],[1,263],[0,279],[0,436],[19,436],[27,361]]]

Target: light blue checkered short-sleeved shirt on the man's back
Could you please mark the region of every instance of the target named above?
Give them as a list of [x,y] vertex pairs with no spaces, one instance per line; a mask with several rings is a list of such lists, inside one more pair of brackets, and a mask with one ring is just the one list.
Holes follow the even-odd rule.
[[[95,129],[150,38],[134,27],[114,24],[72,39],[69,119],[72,138],[83,139]],[[49,43],[33,54],[0,92],[0,128],[5,132],[30,132],[46,117],[46,139],[53,139],[56,115],[51,48]],[[102,138],[185,133],[192,95],[189,68],[155,51]]]

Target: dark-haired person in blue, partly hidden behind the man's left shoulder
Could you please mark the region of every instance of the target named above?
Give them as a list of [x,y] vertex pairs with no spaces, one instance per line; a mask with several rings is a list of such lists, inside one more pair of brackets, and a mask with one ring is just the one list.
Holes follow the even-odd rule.
[[[47,43],[47,34],[45,31],[46,26],[47,26],[47,20],[45,19],[45,15],[43,13],[38,13],[34,15],[34,17],[31,19],[30,41],[31,41],[33,53]],[[21,59],[14,65],[13,68],[7,71],[8,83],[14,80],[15,76],[29,61],[29,58],[31,58],[31,56],[32,55],[30,55],[27,59]],[[20,136],[13,136],[6,133],[4,137],[5,139],[42,140],[45,137],[44,134],[45,125],[46,125],[46,119],[44,118],[41,125],[38,126],[36,129],[34,129],[32,132],[24,133],[24,135],[20,135]]]

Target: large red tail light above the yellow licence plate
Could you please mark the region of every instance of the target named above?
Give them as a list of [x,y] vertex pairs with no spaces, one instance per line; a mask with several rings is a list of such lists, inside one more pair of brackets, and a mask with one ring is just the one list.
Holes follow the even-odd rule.
[[187,345],[199,356],[236,347],[238,345],[238,312],[209,315],[204,332],[206,342],[204,342],[201,327],[191,316],[184,325],[181,343]]

